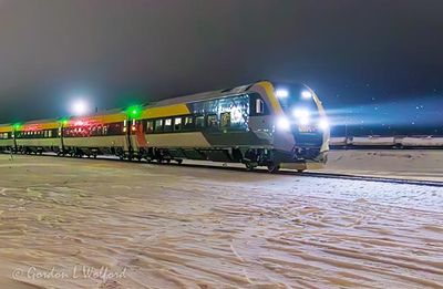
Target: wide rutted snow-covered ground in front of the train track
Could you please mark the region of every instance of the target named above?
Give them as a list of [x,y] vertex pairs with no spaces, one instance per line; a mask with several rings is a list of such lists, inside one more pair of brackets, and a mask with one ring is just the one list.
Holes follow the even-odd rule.
[[0,155],[0,288],[214,287],[442,288],[443,187]]

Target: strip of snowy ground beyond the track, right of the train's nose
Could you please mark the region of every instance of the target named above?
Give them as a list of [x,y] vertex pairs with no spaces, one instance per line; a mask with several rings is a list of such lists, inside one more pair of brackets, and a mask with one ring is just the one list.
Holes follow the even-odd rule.
[[443,182],[443,149],[338,149],[319,172]]

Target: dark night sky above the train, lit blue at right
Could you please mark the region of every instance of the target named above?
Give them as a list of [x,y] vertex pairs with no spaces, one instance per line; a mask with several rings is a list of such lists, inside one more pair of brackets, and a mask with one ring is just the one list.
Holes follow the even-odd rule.
[[441,0],[0,0],[0,122],[270,79],[352,134],[443,134]]

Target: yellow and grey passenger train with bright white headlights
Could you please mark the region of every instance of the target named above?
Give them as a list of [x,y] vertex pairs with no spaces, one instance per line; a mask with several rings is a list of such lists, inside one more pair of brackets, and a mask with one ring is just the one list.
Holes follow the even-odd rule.
[[0,151],[13,154],[213,161],[270,173],[324,164],[329,138],[328,117],[315,91],[271,81],[85,116],[0,125]]

